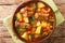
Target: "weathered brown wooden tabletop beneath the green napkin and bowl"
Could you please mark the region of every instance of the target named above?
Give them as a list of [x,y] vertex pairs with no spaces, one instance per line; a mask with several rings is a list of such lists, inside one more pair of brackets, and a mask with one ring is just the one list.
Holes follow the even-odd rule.
[[[14,43],[9,31],[3,25],[3,19],[13,14],[23,0],[0,0],[0,43]],[[65,0],[54,0],[65,17]],[[44,43],[65,43],[65,22],[55,28],[53,34]]]

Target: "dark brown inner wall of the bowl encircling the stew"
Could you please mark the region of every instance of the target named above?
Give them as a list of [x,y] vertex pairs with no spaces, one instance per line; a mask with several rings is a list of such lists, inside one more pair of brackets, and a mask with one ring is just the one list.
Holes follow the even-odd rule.
[[[24,3],[22,3],[22,4],[18,5],[18,8],[17,8],[16,11],[14,12],[14,15],[13,15],[13,18],[12,18],[13,32],[16,34],[16,37],[17,37],[18,39],[21,39],[22,41],[27,42],[27,43],[30,43],[30,42],[28,42],[28,41],[24,40],[23,38],[21,38],[21,37],[18,35],[18,33],[16,32],[16,29],[15,29],[15,19],[14,19],[14,18],[15,18],[16,13],[17,13],[22,8],[28,5],[28,4],[31,3],[31,2],[42,2],[42,3],[44,3],[46,5],[48,5],[48,4],[47,4],[46,2],[43,2],[43,1],[28,1],[28,2],[24,2]],[[48,6],[50,8],[50,5],[48,5]],[[51,8],[50,8],[50,9],[51,9]],[[54,14],[54,12],[53,12],[52,9],[51,9],[51,11],[52,11],[53,17],[54,17],[54,19],[55,19],[55,14]],[[55,20],[54,20],[54,24],[53,24],[53,29],[54,29],[54,27],[55,27]],[[52,31],[53,31],[53,30],[52,30]],[[51,33],[52,33],[52,32],[51,32]],[[47,35],[46,38],[43,38],[42,40],[37,41],[37,42],[42,42],[42,41],[47,40],[47,39],[51,35],[51,33],[49,33],[49,35]],[[37,42],[35,42],[35,43],[37,43]]]

